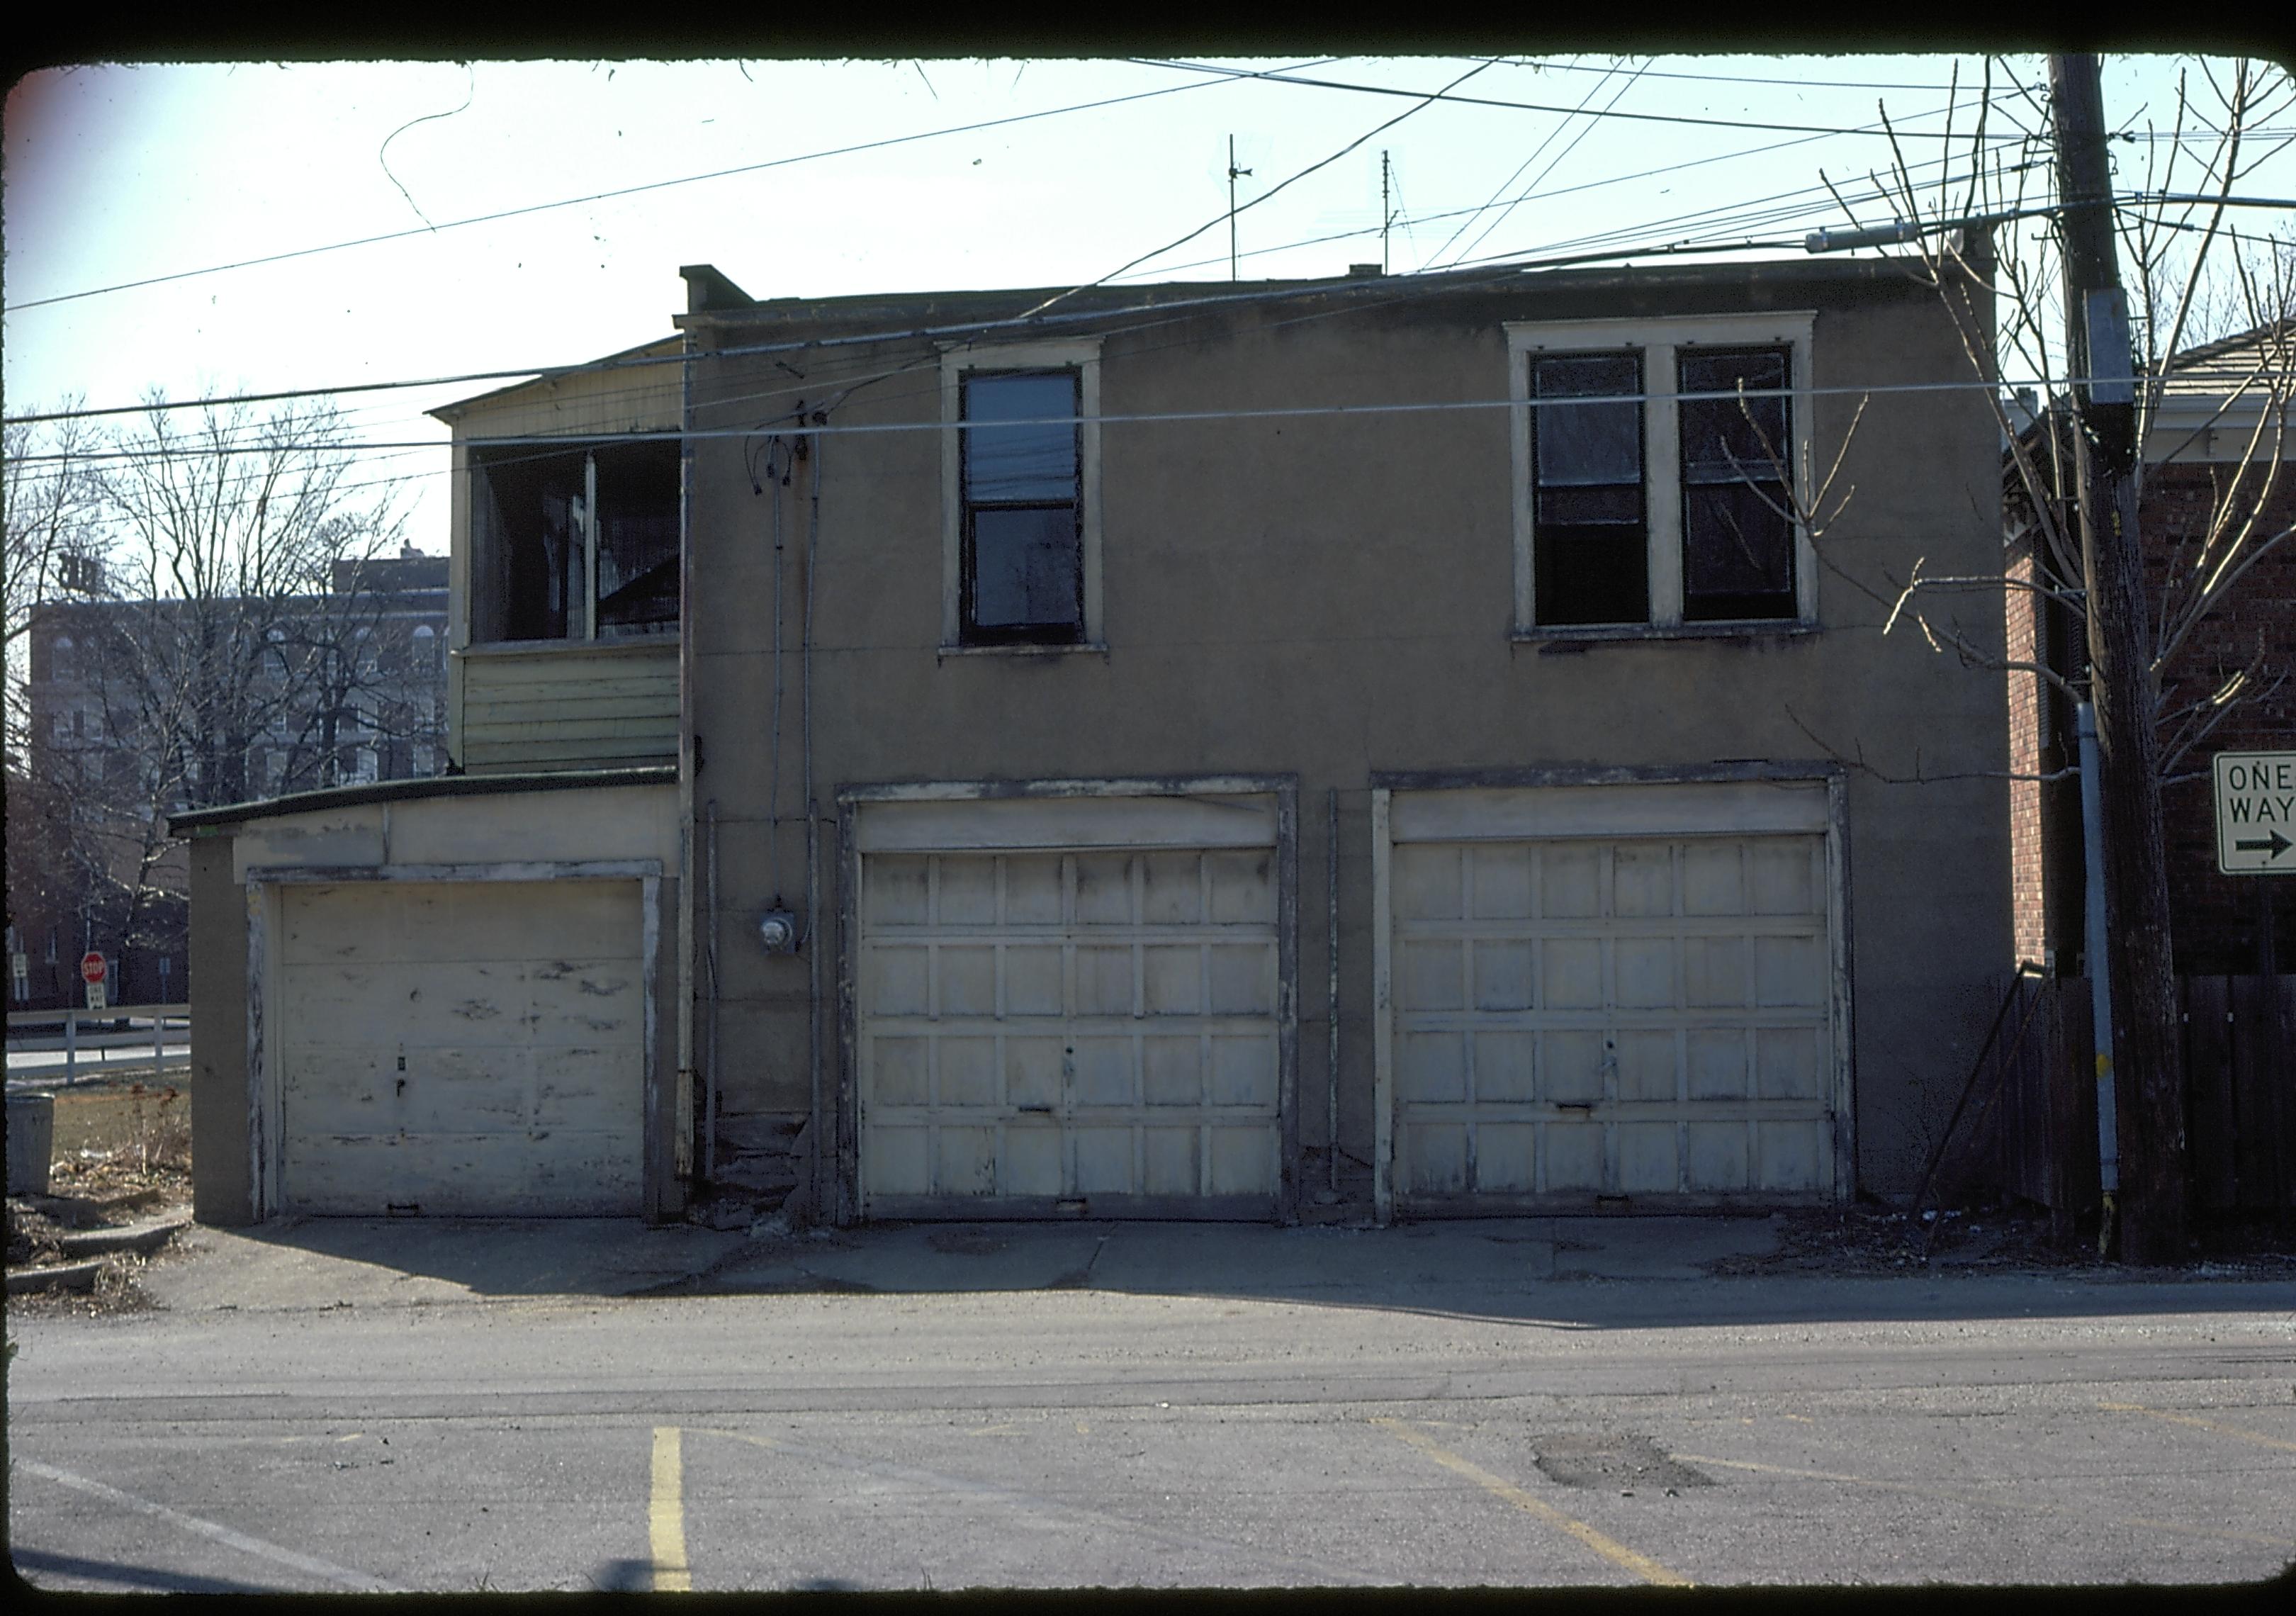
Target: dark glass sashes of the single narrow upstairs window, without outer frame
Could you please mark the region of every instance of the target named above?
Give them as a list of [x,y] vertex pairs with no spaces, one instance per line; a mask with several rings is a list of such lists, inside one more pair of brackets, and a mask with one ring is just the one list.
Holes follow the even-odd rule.
[[1072,645],[1084,638],[1079,374],[971,372],[962,406],[962,636]]

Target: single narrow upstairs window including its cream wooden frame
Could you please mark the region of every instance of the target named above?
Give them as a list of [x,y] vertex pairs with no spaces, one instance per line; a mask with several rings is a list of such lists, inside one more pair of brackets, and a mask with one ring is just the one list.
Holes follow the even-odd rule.
[[948,647],[1100,640],[1100,344],[941,360]]

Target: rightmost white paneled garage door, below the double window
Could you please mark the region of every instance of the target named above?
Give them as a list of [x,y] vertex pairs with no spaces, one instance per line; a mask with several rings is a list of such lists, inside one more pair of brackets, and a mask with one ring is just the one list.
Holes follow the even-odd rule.
[[1825,822],[1823,785],[1396,792],[1396,1203],[1835,1194]]

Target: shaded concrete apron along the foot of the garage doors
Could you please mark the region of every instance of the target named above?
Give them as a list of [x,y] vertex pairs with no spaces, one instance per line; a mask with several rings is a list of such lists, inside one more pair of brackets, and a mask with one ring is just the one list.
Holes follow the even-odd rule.
[[303,1311],[503,1297],[1015,1292],[1316,1297],[1706,1279],[1777,1249],[1752,1217],[1265,1223],[907,1223],[758,1233],[636,1219],[280,1219],[193,1228],[145,1274],[181,1311]]

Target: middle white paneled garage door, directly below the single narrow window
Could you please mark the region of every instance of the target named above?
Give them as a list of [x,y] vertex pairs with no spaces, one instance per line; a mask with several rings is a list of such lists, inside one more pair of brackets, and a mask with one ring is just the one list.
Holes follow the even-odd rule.
[[868,1217],[1270,1217],[1272,799],[863,803]]

